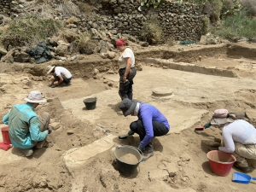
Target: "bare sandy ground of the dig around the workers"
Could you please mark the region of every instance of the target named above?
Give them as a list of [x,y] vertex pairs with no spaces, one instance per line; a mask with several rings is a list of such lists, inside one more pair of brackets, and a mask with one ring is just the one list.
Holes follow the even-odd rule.
[[[251,45],[250,45],[251,46]],[[221,68],[240,67],[223,55],[206,58],[202,65]],[[254,65],[255,61],[241,58]],[[233,63],[233,64],[232,64]],[[236,69],[235,69],[236,70]],[[252,68],[245,72],[255,74]],[[248,71],[247,71],[248,70]],[[71,172],[67,169],[65,154],[73,148],[83,148],[112,134],[114,145],[137,146],[138,137],[125,141],[116,138],[128,131],[135,117],[123,117],[118,110],[118,74],[100,73],[97,79],[73,79],[69,87],[51,89],[46,81],[34,79],[31,74],[1,73],[1,116],[30,90],[42,90],[48,103],[38,108],[48,111],[55,131],[49,137],[52,148],[35,152],[26,159],[14,149],[0,151],[0,192],[7,191],[256,191],[253,183],[232,183],[230,173],[218,177],[211,172],[207,149],[201,140],[220,137],[216,129],[202,134],[194,132],[195,125],[203,125],[216,108],[230,111],[255,111],[256,80],[252,76],[225,78],[200,73],[189,73],[159,67],[143,66],[137,73],[134,97],[149,102],[166,114],[172,130],[165,137],[154,139],[154,156],[139,165],[137,172],[125,177],[116,170],[112,150],[96,154]],[[152,90],[169,90],[171,96],[153,96]],[[96,96],[96,109],[84,109],[83,99]],[[237,172],[233,169],[232,172]],[[256,176],[256,171],[251,175]]]

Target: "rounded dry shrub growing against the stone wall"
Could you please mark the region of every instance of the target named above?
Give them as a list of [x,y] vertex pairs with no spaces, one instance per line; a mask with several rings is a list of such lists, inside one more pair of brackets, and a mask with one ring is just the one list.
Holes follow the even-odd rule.
[[159,44],[163,37],[163,29],[158,20],[147,20],[143,23],[140,39],[148,44]]

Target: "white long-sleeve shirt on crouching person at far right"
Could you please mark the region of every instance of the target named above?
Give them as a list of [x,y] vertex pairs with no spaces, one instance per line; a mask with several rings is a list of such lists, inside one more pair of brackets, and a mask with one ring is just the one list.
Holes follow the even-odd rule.
[[247,121],[239,119],[224,126],[222,137],[225,147],[219,147],[220,151],[233,153],[235,151],[235,143],[256,144],[256,129]]

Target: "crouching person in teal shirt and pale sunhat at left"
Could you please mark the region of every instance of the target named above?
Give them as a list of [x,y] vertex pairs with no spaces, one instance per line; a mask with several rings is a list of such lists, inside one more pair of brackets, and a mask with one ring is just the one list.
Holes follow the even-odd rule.
[[32,90],[26,103],[15,105],[3,116],[3,124],[9,125],[9,137],[14,148],[26,157],[32,156],[33,148],[45,147],[49,131],[49,113],[40,116],[35,112],[39,104],[46,102],[41,92]]

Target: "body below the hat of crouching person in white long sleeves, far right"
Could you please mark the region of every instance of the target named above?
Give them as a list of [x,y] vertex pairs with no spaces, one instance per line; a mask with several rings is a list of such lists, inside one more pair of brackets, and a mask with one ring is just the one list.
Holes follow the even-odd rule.
[[246,120],[238,119],[229,125],[225,125],[222,137],[224,147],[218,150],[225,153],[233,153],[236,156],[234,166],[241,172],[253,172],[253,166],[249,165],[248,160],[256,163],[256,129]]

